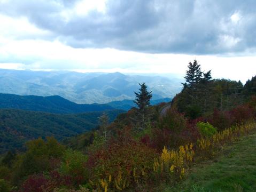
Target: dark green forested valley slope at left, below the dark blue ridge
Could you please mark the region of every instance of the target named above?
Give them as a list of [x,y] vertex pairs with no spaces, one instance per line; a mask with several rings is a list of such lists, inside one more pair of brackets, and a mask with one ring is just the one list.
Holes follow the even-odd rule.
[[[122,110],[107,110],[112,122]],[[50,114],[36,111],[0,109],[0,154],[22,149],[27,140],[53,135],[57,139],[74,136],[98,125],[102,112]]]

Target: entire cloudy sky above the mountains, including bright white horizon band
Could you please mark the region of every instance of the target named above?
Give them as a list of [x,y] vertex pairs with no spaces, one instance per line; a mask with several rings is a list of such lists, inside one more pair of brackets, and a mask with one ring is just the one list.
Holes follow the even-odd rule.
[[256,74],[255,0],[0,0],[0,68]]

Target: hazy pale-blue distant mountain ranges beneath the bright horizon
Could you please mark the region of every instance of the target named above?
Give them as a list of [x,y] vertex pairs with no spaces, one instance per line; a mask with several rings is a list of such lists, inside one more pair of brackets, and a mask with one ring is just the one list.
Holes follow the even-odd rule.
[[0,93],[18,95],[60,95],[75,103],[108,103],[134,100],[138,83],[153,91],[153,100],[173,98],[182,79],[121,73],[76,73],[73,71],[32,71],[0,69]]

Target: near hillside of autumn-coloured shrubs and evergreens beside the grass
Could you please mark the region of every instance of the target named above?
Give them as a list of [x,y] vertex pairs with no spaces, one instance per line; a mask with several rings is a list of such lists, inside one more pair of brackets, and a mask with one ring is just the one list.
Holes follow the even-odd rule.
[[[256,76],[245,85],[212,79],[211,70],[204,73],[195,60],[188,65],[181,93],[171,103],[156,106],[150,105],[153,93],[146,84],[139,85],[136,107],[118,115],[112,123],[109,119],[113,116],[107,113],[90,116],[98,120],[97,130],[63,142],[38,133],[42,138],[27,142],[26,151],[5,153],[0,166],[0,189],[164,191],[163,183],[169,187],[179,185],[194,164],[212,159],[227,143],[255,133]],[[11,122],[24,121],[15,116]],[[65,117],[61,123],[67,127],[76,121],[81,126],[84,123],[71,119]],[[46,120],[42,117],[42,124]],[[49,122],[42,130],[47,132],[53,127]],[[243,189],[245,184],[238,184]],[[245,189],[253,191],[253,187],[256,186]],[[232,186],[225,190],[235,191]]]

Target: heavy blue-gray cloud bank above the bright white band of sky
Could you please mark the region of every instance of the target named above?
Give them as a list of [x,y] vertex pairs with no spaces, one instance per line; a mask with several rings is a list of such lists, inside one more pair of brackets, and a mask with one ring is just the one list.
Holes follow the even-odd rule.
[[72,47],[184,54],[242,53],[256,47],[254,0],[109,0],[105,12],[64,17],[76,3],[11,0],[0,3],[0,12],[26,17]]

